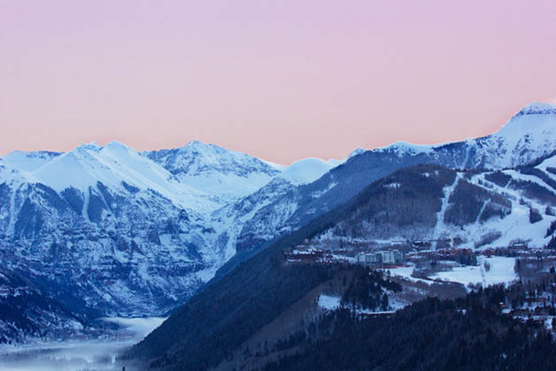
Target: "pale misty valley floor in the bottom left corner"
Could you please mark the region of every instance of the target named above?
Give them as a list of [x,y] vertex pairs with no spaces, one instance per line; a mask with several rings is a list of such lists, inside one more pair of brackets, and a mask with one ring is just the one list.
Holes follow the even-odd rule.
[[[105,318],[119,324],[116,338],[71,340],[63,342],[0,345],[0,370],[74,371],[120,370],[116,356],[128,346],[142,340],[165,320],[161,317]],[[129,369],[129,367],[127,367]]]

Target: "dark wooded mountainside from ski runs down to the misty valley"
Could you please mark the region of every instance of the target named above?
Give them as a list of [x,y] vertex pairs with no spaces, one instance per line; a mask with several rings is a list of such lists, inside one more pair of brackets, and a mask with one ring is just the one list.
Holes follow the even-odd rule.
[[[541,167],[552,161],[545,160]],[[152,369],[210,369],[243,352],[243,345],[251,336],[296,299],[303,298],[319,283],[328,282],[329,274],[339,269],[327,264],[290,264],[286,251],[299,245],[334,253],[335,247],[349,250],[350,243],[368,246],[385,238],[435,238],[438,226],[440,235],[459,231],[461,236],[469,235],[465,241],[459,236],[460,244],[473,245],[477,240],[469,234],[470,230],[496,230],[498,223],[517,229],[512,236],[533,243],[548,241],[545,229],[556,218],[544,214],[543,220],[531,221],[524,211],[552,205],[553,191],[532,187],[534,191],[529,193],[530,184],[522,183],[521,172],[506,172],[500,173],[509,179],[499,186],[504,191],[487,180],[498,180],[497,172],[457,172],[436,165],[400,169],[373,182],[348,203],[283,236],[219,280],[210,282],[203,292],[136,344],[127,357],[143,359]],[[520,197],[524,199],[522,205]],[[506,223],[514,215],[515,219]],[[518,228],[515,221],[520,223]],[[320,268],[324,271],[320,272]],[[301,271],[318,272],[314,277],[320,278],[305,277],[304,281],[298,275]]]

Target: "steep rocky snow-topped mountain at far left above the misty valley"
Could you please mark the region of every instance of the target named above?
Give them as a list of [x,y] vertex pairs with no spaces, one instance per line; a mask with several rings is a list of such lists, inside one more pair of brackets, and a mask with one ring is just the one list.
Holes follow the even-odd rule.
[[0,170],[3,264],[76,312],[166,311],[222,259],[195,210],[210,202],[121,143],[14,165]]

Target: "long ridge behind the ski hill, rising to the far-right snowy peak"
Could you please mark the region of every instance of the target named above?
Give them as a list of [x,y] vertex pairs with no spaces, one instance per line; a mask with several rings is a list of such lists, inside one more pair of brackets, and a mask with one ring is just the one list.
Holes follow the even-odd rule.
[[[524,166],[556,151],[556,106],[529,104],[497,133],[439,145],[397,142],[372,151],[356,150],[341,165],[315,182],[288,184],[246,220],[237,237],[237,251],[268,245],[317,216],[342,205],[361,189],[394,171],[418,164],[452,168],[503,169]],[[253,205],[259,195],[233,207]],[[259,204],[260,205],[260,204]],[[247,255],[247,254],[246,254]]]

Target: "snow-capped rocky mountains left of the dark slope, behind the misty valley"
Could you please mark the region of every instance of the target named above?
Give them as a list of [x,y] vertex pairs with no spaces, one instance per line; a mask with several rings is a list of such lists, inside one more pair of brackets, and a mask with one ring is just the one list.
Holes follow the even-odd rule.
[[311,182],[333,166],[299,164],[199,142],[12,152],[0,158],[0,266],[89,317],[166,313],[236,252],[215,210],[274,179]]

